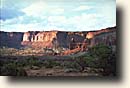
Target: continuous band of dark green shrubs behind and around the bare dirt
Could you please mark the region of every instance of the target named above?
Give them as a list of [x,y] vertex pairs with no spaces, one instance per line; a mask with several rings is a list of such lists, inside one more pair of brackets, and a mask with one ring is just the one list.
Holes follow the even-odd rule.
[[8,61],[1,59],[0,75],[25,76],[27,75],[25,67],[53,68],[56,66],[77,71],[84,71],[85,67],[101,68],[104,70],[105,75],[111,73],[116,75],[116,52],[112,52],[111,47],[102,44],[89,48],[81,56],[73,57],[72,61],[58,62],[52,57],[47,58],[47,60],[41,60],[35,56],[28,56],[20,60],[18,60],[18,57],[16,59],[7,59]]

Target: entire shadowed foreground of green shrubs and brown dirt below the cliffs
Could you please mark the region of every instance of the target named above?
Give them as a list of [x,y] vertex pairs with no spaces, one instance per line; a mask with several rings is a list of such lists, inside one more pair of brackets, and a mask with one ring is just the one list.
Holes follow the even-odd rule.
[[[3,50],[7,54],[15,52],[15,50],[11,50],[12,52]],[[116,52],[112,51],[111,47],[102,44],[89,48],[82,55],[68,56],[68,59],[65,59],[64,56],[52,56],[55,59],[47,56],[40,58],[38,56],[26,56],[23,59],[20,56],[15,56],[11,59],[10,56],[2,56],[2,52],[1,50],[0,75],[56,76],[62,73],[60,75],[63,76],[72,73],[71,76],[73,76],[73,74],[78,73],[78,76],[82,76],[85,73],[87,76],[89,73],[94,74],[93,76],[116,76]],[[51,69],[51,72],[45,73],[48,69]],[[53,72],[52,69],[54,69]],[[59,71],[56,73],[56,70]],[[39,71],[39,73],[33,75],[34,71],[36,73]]]

